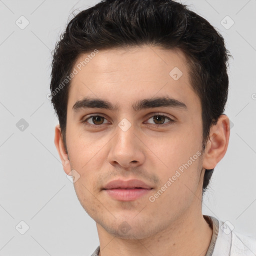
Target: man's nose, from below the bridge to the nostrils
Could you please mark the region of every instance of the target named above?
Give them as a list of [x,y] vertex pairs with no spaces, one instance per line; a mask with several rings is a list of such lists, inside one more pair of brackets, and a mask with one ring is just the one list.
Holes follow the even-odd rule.
[[145,160],[143,143],[138,139],[133,125],[126,131],[117,126],[109,146],[108,162],[113,166],[130,169],[141,165]]

